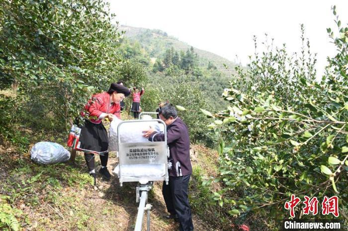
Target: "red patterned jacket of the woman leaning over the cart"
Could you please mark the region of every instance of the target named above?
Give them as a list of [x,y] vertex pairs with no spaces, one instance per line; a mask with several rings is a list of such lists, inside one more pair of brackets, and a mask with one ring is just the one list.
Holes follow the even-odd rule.
[[93,95],[87,102],[84,107],[84,110],[81,112],[81,116],[90,117],[95,116],[96,118],[90,118],[89,120],[92,123],[100,123],[101,119],[98,117],[102,113],[113,114],[119,119],[121,118],[121,107],[120,104],[112,103],[110,105],[110,95],[107,92],[102,92]]

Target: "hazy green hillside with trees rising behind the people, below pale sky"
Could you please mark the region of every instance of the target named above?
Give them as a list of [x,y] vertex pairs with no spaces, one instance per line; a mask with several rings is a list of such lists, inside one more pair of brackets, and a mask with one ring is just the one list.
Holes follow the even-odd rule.
[[148,88],[185,83],[202,92],[209,109],[226,107],[221,94],[235,73],[233,62],[195,49],[161,30],[129,26],[118,29],[124,33],[118,53],[148,70]]

